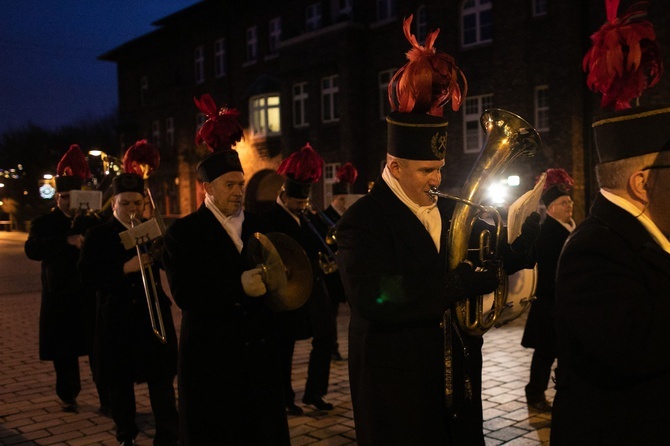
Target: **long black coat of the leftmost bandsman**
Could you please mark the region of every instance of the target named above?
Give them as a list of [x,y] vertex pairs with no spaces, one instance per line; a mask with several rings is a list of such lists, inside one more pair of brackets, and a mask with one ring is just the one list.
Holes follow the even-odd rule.
[[95,300],[86,299],[77,273],[79,249],[67,243],[72,219],[60,209],[36,218],[24,246],[42,262],[39,354],[41,360],[86,355],[90,351]]

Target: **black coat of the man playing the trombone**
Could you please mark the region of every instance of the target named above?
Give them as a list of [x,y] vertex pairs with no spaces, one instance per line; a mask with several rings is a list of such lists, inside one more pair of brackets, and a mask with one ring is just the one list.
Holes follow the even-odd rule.
[[99,310],[95,348],[100,364],[94,374],[106,382],[145,382],[177,374],[177,336],[170,306],[153,265],[161,314],[167,334],[162,344],[151,329],[140,272],[124,274],[123,264],[137,255],[126,250],[119,233],[126,230],[115,217],[86,233],[79,271],[96,290]]

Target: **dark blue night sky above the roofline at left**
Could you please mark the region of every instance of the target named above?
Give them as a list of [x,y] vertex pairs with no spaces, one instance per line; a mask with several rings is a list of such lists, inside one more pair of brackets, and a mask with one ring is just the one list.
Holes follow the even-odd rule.
[[116,110],[116,64],[101,54],[199,0],[0,0],[0,133]]

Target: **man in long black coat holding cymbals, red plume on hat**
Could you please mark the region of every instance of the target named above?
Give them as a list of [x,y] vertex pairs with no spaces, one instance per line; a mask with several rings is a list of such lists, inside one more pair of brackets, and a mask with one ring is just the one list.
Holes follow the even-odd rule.
[[196,105],[208,118],[196,143],[213,152],[197,166],[205,202],[168,228],[163,251],[182,310],[180,444],[288,446],[273,314],[261,269],[246,261],[246,241],[267,227],[242,209],[238,113],[209,95]]

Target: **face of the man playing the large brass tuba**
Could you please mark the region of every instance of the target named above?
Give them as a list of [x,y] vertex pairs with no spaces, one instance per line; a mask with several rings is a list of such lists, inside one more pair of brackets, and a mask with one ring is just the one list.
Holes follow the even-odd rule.
[[407,196],[419,206],[435,203],[428,191],[442,182],[444,160],[393,160],[389,165],[391,174],[398,180]]

